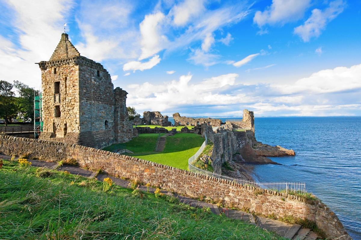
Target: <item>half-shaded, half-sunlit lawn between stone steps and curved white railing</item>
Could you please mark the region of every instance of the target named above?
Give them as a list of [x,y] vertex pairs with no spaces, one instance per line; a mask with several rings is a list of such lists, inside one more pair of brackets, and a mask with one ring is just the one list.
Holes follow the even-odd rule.
[[174,136],[167,137],[162,152],[153,152],[153,147],[151,152],[144,149],[142,151],[133,151],[134,154],[128,155],[187,170],[188,159],[198,151],[203,142],[204,138],[200,135],[177,133]]

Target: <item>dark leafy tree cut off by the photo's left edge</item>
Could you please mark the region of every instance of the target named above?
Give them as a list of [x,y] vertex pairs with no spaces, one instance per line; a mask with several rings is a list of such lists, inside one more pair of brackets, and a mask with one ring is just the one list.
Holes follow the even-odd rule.
[[12,89],[11,83],[4,80],[0,81],[0,117],[5,119],[5,126],[8,126],[11,118],[16,116],[18,112],[17,98]]

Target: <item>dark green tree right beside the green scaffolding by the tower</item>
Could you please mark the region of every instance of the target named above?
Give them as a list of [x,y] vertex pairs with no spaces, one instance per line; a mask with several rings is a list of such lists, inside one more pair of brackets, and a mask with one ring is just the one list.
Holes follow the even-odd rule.
[[25,121],[29,119],[34,121],[34,95],[38,95],[38,91],[19,81],[14,81],[14,87],[19,93],[17,100],[19,114],[22,114]]

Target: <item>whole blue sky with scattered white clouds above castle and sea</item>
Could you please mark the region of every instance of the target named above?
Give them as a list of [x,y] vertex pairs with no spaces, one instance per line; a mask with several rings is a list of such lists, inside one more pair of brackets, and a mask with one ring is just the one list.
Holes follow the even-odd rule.
[[0,78],[40,87],[34,63],[66,32],[138,112],[361,116],[361,2],[0,0]]

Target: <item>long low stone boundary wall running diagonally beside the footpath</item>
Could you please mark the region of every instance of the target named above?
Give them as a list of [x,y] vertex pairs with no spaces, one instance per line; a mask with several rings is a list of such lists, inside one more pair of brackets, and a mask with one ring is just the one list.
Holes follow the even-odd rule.
[[40,160],[74,158],[83,167],[101,168],[114,176],[138,178],[144,183],[192,198],[206,196],[213,200],[222,199],[229,207],[247,208],[265,215],[274,213],[282,217],[291,214],[307,218],[315,221],[329,237],[346,235],[340,239],[351,239],[335,213],[319,201],[257,189],[147,160],[64,142],[0,136],[0,152],[7,155],[29,154],[29,159]]

